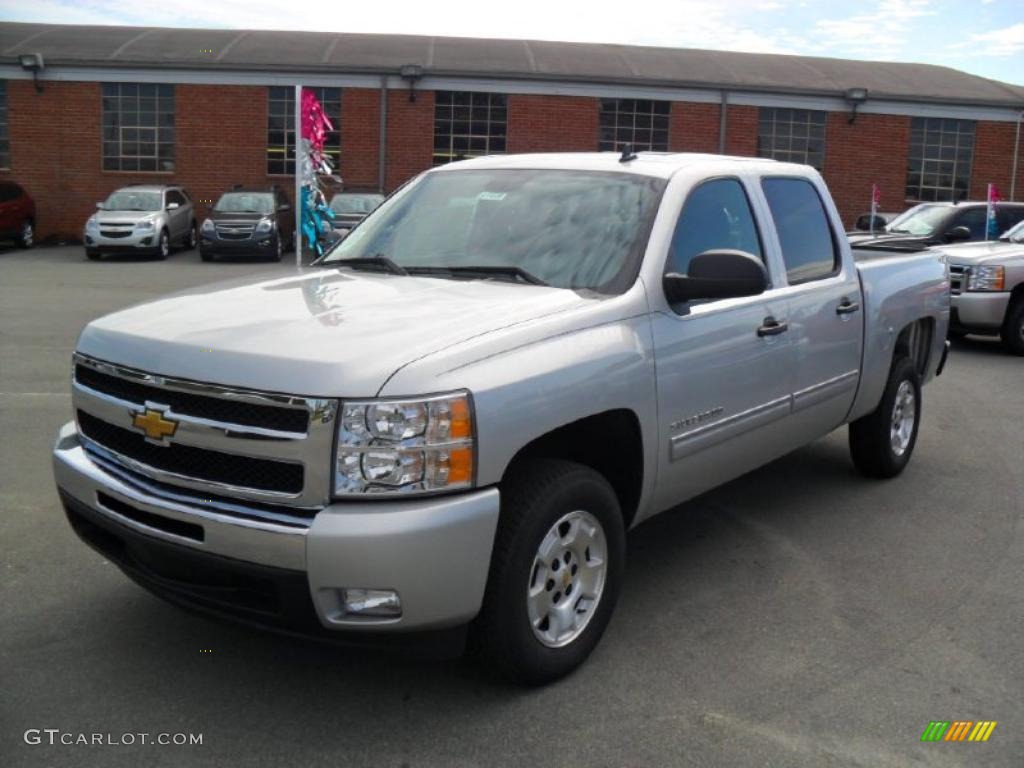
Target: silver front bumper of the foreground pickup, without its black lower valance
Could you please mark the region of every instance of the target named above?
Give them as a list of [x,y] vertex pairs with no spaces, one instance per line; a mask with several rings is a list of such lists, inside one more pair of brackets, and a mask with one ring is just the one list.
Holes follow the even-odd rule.
[[[53,472],[60,492],[92,515],[114,528],[123,526],[132,535],[175,545],[183,560],[205,553],[211,562],[227,559],[304,573],[316,618],[331,630],[453,627],[476,615],[483,599],[498,525],[496,488],[410,501],[332,504],[307,525],[275,523],[147,493],[94,461],[73,422],[60,429]],[[99,495],[114,504],[104,504]],[[141,514],[128,517],[111,508],[118,504]],[[241,505],[239,509],[244,511]],[[253,510],[253,517],[259,515]],[[175,526],[163,524],[165,519],[199,526],[202,535],[173,532]],[[343,588],[396,590],[401,616],[346,615],[339,602]]]

